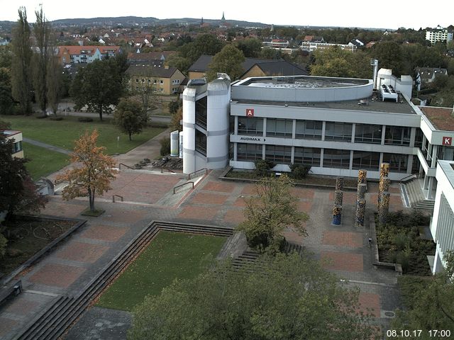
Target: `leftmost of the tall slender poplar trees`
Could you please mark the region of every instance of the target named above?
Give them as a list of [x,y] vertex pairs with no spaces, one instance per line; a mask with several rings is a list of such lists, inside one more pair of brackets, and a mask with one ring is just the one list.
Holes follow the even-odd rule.
[[18,101],[23,114],[32,113],[31,98],[33,86],[31,83],[31,29],[27,21],[25,7],[18,10],[19,19],[13,28],[11,50],[11,88],[14,100]]

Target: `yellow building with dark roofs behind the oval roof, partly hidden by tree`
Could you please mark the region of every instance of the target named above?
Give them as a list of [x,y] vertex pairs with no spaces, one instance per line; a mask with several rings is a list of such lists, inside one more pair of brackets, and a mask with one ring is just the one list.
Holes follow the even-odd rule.
[[[189,79],[204,78],[211,63],[212,55],[201,55],[188,69]],[[240,79],[247,77],[270,77],[270,76],[294,76],[297,74],[307,75],[305,69],[286,60],[270,60],[260,58],[245,58],[242,64],[244,74]]]

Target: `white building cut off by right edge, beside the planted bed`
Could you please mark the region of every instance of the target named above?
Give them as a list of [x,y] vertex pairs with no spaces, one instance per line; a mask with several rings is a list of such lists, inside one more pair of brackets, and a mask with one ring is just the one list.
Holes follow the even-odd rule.
[[443,270],[443,256],[454,250],[454,162],[438,161],[436,179],[438,188],[433,209],[431,233],[436,242],[433,273]]

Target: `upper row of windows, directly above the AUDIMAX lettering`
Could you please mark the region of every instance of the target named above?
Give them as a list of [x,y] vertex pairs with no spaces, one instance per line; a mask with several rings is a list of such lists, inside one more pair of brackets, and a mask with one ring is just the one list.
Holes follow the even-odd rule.
[[[268,137],[293,136],[291,119],[266,118]],[[238,117],[238,135],[263,135],[264,118]],[[383,125],[355,124],[355,142],[382,144]],[[306,140],[321,140],[323,122],[319,120],[296,120],[295,138]],[[386,126],[384,131],[385,145],[410,145],[411,128],[402,126]],[[353,134],[352,123],[325,123],[325,140],[351,142]]]

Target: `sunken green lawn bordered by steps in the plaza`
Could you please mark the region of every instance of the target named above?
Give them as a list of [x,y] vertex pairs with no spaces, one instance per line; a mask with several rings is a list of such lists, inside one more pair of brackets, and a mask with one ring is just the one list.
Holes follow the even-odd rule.
[[131,311],[145,295],[158,295],[175,278],[194,278],[201,260],[216,256],[225,237],[159,232],[147,249],[101,295],[99,307]]

